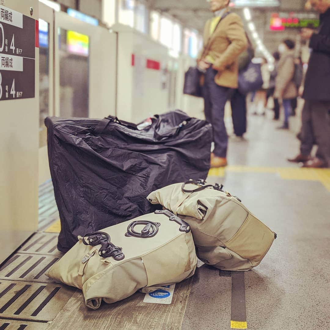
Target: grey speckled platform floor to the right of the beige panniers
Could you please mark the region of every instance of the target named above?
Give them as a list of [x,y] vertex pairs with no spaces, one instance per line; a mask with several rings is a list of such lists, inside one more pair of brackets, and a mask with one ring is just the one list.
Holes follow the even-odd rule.
[[[297,167],[293,133],[280,123],[249,117],[247,140],[230,142],[229,165]],[[261,262],[245,273],[248,329],[314,330],[330,326],[330,192],[314,181],[282,180],[272,173],[228,171],[210,177],[277,232]],[[231,281],[214,269],[197,271],[182,330],[230,329]]]

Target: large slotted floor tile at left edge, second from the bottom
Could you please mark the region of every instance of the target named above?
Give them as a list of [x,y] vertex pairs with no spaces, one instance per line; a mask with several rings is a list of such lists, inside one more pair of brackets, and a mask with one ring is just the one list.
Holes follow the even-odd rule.
[[75,291],[60,284],[0,280],[0,318],[51,321]]

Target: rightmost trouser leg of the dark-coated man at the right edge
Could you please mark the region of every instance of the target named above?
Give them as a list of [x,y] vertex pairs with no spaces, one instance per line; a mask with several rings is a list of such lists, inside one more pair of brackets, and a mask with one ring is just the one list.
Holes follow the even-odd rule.
[[312,124],[318,147],[316,157],[330,167],[330,102],[313,102]]

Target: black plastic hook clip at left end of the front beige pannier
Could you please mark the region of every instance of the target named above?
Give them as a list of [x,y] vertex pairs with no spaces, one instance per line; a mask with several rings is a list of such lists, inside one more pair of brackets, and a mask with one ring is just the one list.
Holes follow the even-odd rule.
[[119,261],[125,258],[124,253],[122,253],[122,248],[116,247],[110,242],[110,235],[103,231],[94,231],[92,233],[87,233],[82,238],[82,243],[84,245],[99,245],[99,256],[103,258],[113,257],[115,260]]

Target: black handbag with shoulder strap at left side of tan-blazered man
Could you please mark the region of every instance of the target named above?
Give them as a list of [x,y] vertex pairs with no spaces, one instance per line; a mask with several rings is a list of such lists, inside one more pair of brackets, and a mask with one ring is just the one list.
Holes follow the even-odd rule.
[[[210,35],[209,40],[206,43],[206,46],[203,49],[201,58],[209,51],[210,48],[210,41],[212,35],[215,33],[216,28],[218,27],[219,23],[222,19],[224,19],[230,12],[225,13],[216,24],[213,33]],[[202,95],[202,85],[201,85],[201,76],[203,72],[200,71],[198,66],[191,66],[189,67],[188,71],[184,74],[184,84],[183,84],[183,94],[203,97]]]

